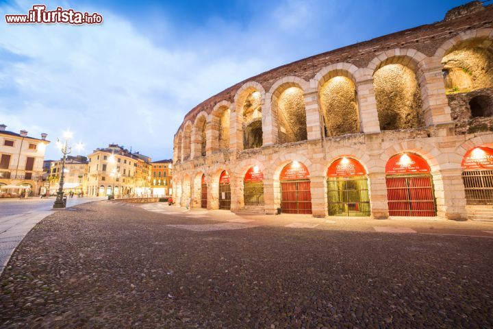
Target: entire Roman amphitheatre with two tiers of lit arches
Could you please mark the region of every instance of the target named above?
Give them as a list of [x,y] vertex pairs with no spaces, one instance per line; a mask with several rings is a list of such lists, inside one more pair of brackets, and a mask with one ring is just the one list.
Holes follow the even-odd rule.
[[492,219],[492,21],[473,1],[203,101],[175,134],[176,204]]

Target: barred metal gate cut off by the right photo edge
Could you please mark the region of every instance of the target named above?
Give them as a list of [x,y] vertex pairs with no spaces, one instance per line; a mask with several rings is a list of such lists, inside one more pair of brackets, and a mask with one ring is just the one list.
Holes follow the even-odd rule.
[[462,171],[466,204],[493,204],[493,170]]

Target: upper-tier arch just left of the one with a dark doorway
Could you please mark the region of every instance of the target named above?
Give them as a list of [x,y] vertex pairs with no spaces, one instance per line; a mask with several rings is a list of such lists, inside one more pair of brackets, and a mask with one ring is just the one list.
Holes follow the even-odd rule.
[[229,101],[220,101],[212,109],[209,129],[212,151],[229,149],[230,108],[231,103]]

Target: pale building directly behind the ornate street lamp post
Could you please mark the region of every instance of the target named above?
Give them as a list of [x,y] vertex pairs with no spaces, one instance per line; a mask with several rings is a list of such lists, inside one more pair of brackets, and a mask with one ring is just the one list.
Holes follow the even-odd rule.
[[[67,156],[65,160],[64,193],[87,194],[88,158],[86,156]],[[49,194],[58,192],[62,160],[52,161],[48,177]]]

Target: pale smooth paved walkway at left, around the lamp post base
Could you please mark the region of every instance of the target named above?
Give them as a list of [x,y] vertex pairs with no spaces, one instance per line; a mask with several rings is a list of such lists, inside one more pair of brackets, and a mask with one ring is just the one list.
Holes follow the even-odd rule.
[[[67,199],[66,206],[70,208],[101,199],[101,197],[73,197]],[[34,228],[41,219],[55,211],[52,209],[53,202],[55,202],[55,197],[0,199],[0,274],[27,232]]]

